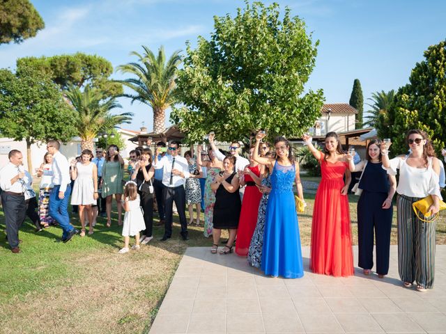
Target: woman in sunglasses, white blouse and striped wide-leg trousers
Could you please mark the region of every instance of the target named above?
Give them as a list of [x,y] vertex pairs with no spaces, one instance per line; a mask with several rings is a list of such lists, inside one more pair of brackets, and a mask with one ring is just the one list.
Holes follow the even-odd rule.
[[[431,195],[433,204],[429,207],[431,216],[440,206],[438,175],[440,166],[435,157],[427,134],[419,129],[410,130],[406,136],[411,150],[407,156],[389,160],[385,143],[381,145],[383,168],[396,175],[399,169],[397,187],[398,222],[398,267],[404,287],[416,288],[420,292],[432,289],[435,273],[435,230],[434,221],[421,221],[412,209],[412,203]],[[388,145],[388,144],[387,144]]]

